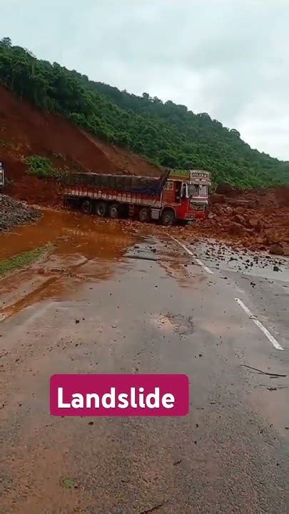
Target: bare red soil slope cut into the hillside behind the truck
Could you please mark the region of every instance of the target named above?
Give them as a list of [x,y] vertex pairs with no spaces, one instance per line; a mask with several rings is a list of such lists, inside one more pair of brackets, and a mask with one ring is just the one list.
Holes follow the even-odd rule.
[[147,176],[160,173],[143,158],[101,143],[66,119],[46,114],[0,86],[0,161],[6,171],[6,192],[32,203],[56,205],[59,188],[26,173],[24,158],[33,154],[48,156],[56,168]]

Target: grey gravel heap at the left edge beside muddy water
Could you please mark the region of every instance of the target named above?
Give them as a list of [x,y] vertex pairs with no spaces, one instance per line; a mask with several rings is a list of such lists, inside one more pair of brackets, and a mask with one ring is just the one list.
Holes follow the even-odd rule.
[[39,218],[41,218],[40,211],[10,196],[0,194],[0,232],[24,223],[32,223]]

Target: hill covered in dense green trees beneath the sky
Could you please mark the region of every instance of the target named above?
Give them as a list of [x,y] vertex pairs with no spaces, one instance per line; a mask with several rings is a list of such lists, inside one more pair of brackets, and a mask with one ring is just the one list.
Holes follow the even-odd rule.
[[[89,81],[57,63],[41,61],[26,49],[0,41],[0,81],[21,98],[161,166],[203,168],[216,184],[241,187],[289,183],[289,163],[253,150],[238,131],[206,113],[165,104]],[[1,106],[0,106],[1,111]]]

